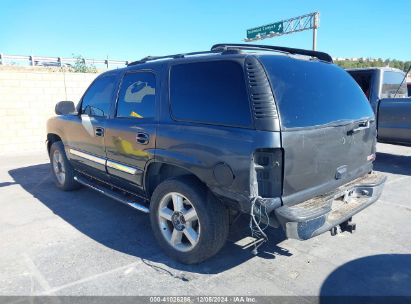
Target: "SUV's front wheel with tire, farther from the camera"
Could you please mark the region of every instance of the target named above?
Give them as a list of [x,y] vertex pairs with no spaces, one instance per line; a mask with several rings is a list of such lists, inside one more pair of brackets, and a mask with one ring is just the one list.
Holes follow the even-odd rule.
[[50,164],[53,179],[58,188],[64,191],[80,188],[80,184],[74,180],[74,169],[67,159],[61,141],[53,143],[50,147]]

